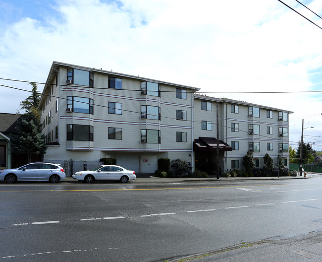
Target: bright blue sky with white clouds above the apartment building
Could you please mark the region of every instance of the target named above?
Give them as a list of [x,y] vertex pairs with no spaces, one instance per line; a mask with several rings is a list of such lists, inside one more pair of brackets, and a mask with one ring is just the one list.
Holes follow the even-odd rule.
[[[316,14],[283,2],[322,27],[321,0],[300,0]],[[20,110],[28,82],[44,83],[58,61],[292,111],[290,146],[304,119],[304,142],[321,151],[322,92],[313,91],[322,91],[322,29],[315,24],[278,0],[0,0],[0,112]]]

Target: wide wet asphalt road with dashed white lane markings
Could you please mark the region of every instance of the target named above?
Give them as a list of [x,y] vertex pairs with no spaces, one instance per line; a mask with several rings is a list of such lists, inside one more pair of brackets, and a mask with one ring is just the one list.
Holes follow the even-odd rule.
[[0,183],[0,261],[166,261],[321,230],[322,179]]

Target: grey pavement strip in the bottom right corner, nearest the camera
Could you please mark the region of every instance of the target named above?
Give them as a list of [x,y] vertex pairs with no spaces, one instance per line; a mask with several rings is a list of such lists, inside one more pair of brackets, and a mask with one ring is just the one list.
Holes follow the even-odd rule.
[[168,262],[321,262],[322,231],[288,239],[267,239]]

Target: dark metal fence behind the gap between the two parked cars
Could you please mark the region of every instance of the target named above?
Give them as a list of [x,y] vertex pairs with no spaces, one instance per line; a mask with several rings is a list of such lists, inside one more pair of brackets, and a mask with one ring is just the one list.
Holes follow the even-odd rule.
[[91,170],[95,167],[103,165],[100,161],[86,161],[86,160],[51,160],[44,159],[44,162],[60,164],[65,170],[66,177],[71,177],[75,172],[83,170]]

